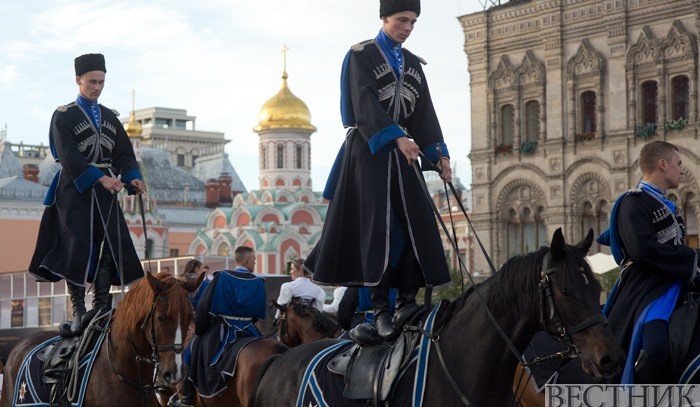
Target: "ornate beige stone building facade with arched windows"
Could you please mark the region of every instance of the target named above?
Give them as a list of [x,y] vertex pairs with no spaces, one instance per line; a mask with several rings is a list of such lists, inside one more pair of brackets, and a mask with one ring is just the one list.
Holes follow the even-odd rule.
[[[473,220],[497,264],[558,227],[570,242],[607,228],[653,139],[681,149],[687,176],[673,196],[697,246],[700,4],[531,0],[460,22],[473,96]],[[474,263],[488,272],[483,256]]]

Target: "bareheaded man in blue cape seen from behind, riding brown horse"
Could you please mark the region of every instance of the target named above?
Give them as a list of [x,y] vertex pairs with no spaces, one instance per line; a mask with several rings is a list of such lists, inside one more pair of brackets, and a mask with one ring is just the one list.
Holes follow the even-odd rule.
[[179,398],[174,395],[169,406],[194,405],[195,390],[202,397],[214,397],[223,391],[226,379],[233,376],[240,350],[234,342],[262,336],[253,324],[265,319],[267,297],[265,280],[253,274],[255,251],[239,246],[233,256],[236,269],[215,272],[197,304],[191,357],[187,352],[185,358],[189,374]]

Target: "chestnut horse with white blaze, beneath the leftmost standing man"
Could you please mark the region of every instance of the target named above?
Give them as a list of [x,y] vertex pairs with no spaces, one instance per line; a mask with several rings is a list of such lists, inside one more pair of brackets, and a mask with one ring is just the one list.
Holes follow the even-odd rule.
[[[182,345],[194,318],[187,294],[201,278],[186,283],[160,273],[133,284],[114,311],[107,339],[95,359],[84,398],[85,406],[158,405],[154,381],[175,386],[183,377]],[[21,340],[5,366],[0,405],[12,406],[15,382],[25,355],[53,332],[40,332]],[[157,356],[152,359],[154,351]],[[151,363],[145,363],[149,360]],[[154,363],[159,366],[154,378]]]

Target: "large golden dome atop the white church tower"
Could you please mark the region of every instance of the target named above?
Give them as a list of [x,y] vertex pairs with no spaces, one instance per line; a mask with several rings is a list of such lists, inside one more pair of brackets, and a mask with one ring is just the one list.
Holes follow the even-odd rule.
[[311,124],[311,112],[306,103],[294,96],[287,86],[287,72],[282,74],[282,88],[260,109],[258,122],[253,129],[258,133],[274,129],[316,131],[316,127]]

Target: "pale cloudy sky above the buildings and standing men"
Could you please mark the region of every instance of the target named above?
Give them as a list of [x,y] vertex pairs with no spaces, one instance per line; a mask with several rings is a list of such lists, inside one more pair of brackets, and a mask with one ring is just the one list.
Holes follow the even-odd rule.
[[[186,109],[197,130],[232,140],[226,152],[246,188],[257,189],[260,107],[281,86],[287,44],[291,91],[318,131],[311,136],[315,190],[325,184],[345,132],[340,67],[351,45],[381,28],[376,0],[0,0],[0,126],[7,138],[48,143],[51,115],[75,99],[73,59],[103,53],[100,103],[128,118],[136,108]],[[471,182],[470,94],[458,16],[478,0],[423,0],[404,44],[424,71],[456,175]]]

